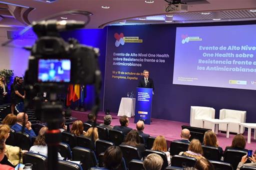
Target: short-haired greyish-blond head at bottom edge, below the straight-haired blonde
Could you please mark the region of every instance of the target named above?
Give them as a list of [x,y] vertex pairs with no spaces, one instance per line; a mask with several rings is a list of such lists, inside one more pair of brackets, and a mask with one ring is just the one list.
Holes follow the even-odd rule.
[[145,170],[160,170],[163,160],[160,155],[156,153],[148,154],[143,160],[143,167]]

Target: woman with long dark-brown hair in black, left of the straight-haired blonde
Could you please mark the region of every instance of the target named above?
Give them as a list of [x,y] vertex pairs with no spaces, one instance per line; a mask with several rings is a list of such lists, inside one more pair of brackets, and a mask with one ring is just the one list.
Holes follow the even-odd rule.
[[145,145],[140,143],[139,135],[136,130],[130,130],[121,144],[136,147],[138,149],[139,157],[143,156]]

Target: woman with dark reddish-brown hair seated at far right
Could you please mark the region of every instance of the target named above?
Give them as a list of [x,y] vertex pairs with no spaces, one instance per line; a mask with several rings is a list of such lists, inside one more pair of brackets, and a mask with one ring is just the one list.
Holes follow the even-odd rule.
[[246,141],[245,141],[243,135],[242,134],[236,134],[233,137],[231,146],[226,146],[225,151],[227,149],[248,151],[247,149],[245,149],[245,145],[246,145]]

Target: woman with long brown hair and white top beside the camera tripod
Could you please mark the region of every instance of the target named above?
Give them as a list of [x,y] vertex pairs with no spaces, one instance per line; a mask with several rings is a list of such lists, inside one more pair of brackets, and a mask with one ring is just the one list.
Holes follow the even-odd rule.
[[[38,136],[35,138],[34,145],[30,147],[29,151],[34,153],[39,153],[47,157],[47,145],[45,142],[45,132],[48,127],[44,126],[40,129]],[[63,159],[63,157],[58,152],[58,159]]]

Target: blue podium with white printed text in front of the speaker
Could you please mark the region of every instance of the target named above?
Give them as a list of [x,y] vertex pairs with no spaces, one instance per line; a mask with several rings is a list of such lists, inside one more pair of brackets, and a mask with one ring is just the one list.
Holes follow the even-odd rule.
[[153,95],[152,90],[152,88],[137,87],[134,123],[138,120],[144,120],[145,124],[150,124]]

